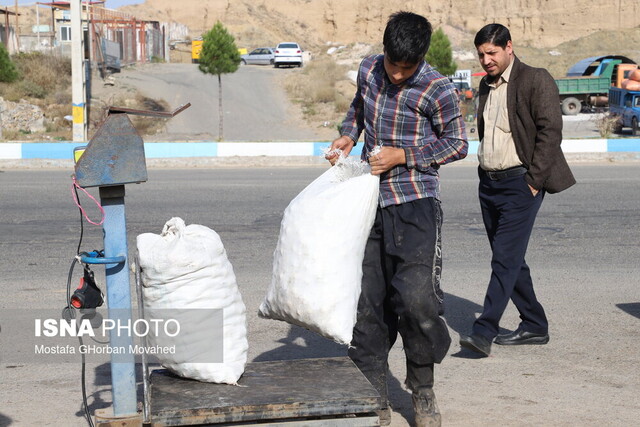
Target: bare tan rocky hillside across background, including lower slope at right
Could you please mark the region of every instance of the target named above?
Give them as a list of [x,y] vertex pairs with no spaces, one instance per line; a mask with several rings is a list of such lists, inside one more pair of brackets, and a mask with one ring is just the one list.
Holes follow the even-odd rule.
[[[120,8],[142,19],[187,25],[192,38],[220,20],[240,47],[295,40],[314,56],[329,45],[379,49],[388,16],[400,9],[442,27],[460,68],[479,70],[473,35],[490,22],[507,25],[516,53],[557,77],[588,56],[618,54],[640,63],[638,0],[146,0]],[[20,13],[21,32],[30,31],[35,7],[21,7]],[[188,52],[184,56],[190,60]]]

